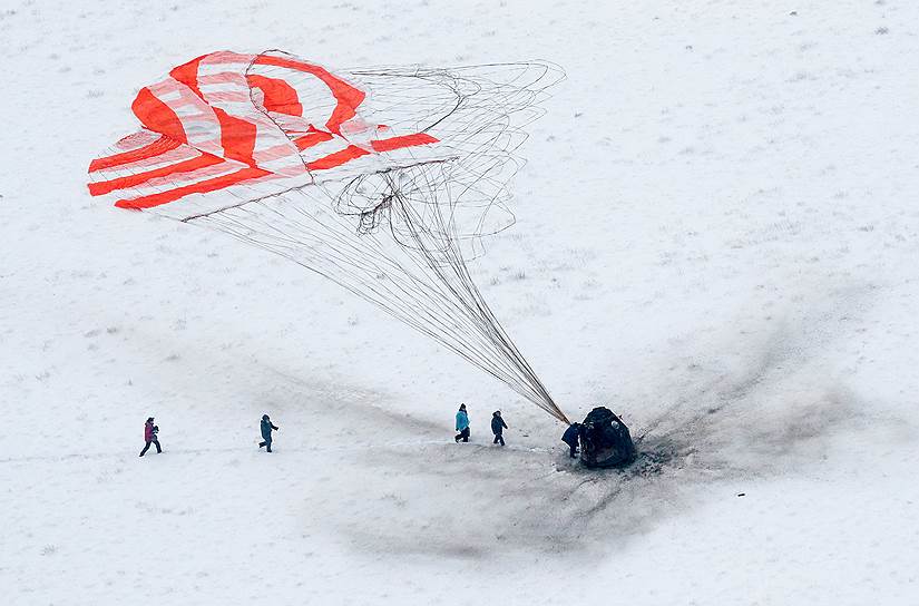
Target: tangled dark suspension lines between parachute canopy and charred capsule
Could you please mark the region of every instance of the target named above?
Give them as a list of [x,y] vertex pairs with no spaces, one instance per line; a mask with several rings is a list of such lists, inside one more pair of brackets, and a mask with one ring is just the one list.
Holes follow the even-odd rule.
[[[254,65],[255,59],[246,74]],[[260,63],[260,72],[271,76],[266,69]],[[568,423],[466,264],[481,252],[485,236],[514,224],[506,184],[522,166],[514,153],[526,140],[522,126],[541,115],[536,104],[559,71],[514,63],[345,76],[369,91],[362,120],[397,134],[423,133],[439,141],[441,155],[415,157],[410,149],[401,165],[338,180],[320,180],[321,173],[307,170],[311,184],[267,195],[237,184],[226,192],[237,204],[185,221],[332,280]],[[287,118],[263,109],[254,95],[251,89],[253,106],[284,130]],[[309,169],[305,160],[303,166]]]

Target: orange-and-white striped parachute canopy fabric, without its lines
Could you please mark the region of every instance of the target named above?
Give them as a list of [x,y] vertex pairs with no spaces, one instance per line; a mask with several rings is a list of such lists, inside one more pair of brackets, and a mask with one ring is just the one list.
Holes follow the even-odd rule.
[[[438,143],[366,123],[365,99],[355,85],[290,56],[203,55],[140,89],[131,109],[144,130],[90,163],[89,193],[121,192],[116,206],[151,208],[247,182],[309,183],[314,172],[366,156],[385,163],[387,153]],[[394,136],[381,138],[382,130]]]

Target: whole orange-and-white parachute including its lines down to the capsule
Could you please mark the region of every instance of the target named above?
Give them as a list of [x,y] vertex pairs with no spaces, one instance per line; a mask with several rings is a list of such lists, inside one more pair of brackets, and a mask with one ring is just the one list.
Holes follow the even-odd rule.
[[325,275],[567,422],[466,267],[512,223],[514,152],[558,76],[212,52],[140,89],[141,129],[92,160],[89,192]]

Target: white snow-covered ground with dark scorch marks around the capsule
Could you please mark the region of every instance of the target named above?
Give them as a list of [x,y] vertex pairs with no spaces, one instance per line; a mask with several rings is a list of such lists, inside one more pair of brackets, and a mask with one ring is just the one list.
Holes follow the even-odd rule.
[[[919,3],[2,0],[0,40],[0,603],[919,604]],[[470,268],[657,465],[584,470],[331,282],[90,198],[139,87],[268,48],[565,69]]]

